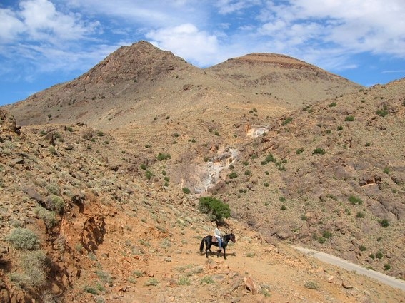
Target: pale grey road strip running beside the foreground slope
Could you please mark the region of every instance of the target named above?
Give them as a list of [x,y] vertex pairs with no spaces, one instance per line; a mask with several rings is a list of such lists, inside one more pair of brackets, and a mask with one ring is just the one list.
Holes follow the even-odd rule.
[[399,288],[399,289],[402,289],[405,291],[405,282],[401,281],[400,279],[396,279],[394,277],[387,276],[386,274],[381,274],[381,272],[375,272],[374,270],[371,270],[371,269],[365,269],[364,267],[361,267],[359,265],[356,265],[354,263],[351,263],[351,262],[341,259],[339,257],[335,257],[333,255],[326,254],[324,252],[318,252],[316,250],[310,250],[308,248],[298,247],[298,246],[291,246],[291,247],[293,247],[296,250],[299,250],[301,252],[304,252],[306,255],[316,257],[317,259],[321,260],[322,262],[326,262],[331,265],[339,266],[348,271],[355,271],[358,274],[363,274],[367,277],[371,277],[373,279],[379,280],[380,282],[383,282],[386,285],[389,285],[389,286],[395,287],[395,288]]

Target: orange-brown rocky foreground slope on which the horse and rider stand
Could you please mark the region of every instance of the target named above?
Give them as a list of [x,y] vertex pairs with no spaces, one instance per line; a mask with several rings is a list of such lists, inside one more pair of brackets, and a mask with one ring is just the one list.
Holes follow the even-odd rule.
[[[269,244],[234,219],[221,227],[236,235],[227,259],[206,259],[199,245],[213,225],[197,210],[198,200],[140,180],[131,171],[136,157],[116,148],[114,138],[85,125],[19,130],[10,115],[1,115],[2,302],[401,302],[404,297],[399,289],[308,258],[286,242]],[[19,247],[11,237],[16,229],[34,232],[38,246]]]

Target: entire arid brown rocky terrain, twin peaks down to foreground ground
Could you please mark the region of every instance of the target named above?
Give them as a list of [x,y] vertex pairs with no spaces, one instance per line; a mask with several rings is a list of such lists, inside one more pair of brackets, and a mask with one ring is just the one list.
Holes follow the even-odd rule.
[[[264,53],[201,69],[141,41],[0,111],[4,302],[404,298],[289,247],[405,278],[404,79]],[[231,209],[227,260],[199,253],[204,196]]]

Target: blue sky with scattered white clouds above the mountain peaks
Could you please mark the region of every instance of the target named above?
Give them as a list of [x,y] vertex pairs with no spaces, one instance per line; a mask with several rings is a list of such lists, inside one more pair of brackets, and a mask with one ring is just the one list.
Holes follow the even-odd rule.
[[1,0],[0,105],[140,40],[199,67],[264,52],[364,86],[405,77],[404,0]]

